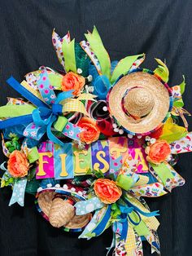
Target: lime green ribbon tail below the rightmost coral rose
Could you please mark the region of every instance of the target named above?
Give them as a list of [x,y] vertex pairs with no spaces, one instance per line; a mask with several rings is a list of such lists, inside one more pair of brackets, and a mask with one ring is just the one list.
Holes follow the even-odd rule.
[[166,164],[161,163],[159,165],[155,165],[151,163],[151,166],[155,170],[155,173],[158,174],[159,179],[162,180],[164,185],[166,185],[168,179],[174,179],[174,175]]

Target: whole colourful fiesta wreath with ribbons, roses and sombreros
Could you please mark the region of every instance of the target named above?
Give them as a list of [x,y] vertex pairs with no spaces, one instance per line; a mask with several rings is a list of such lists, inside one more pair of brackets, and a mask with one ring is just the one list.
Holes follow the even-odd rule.
[[[143,196],[164,196],[185,180],[173,169],[192,151],[180,85],[168,68],[139,68],[144,54],[112,61],[96,28],[76,43],[68,33],[52,42],[62,70],[41,67],[7,83],[24,99],[0,107],[1,187],[9,205],[36,195],[53,227],[99,236],[112,227],[114,255],[143,255],[142,241],[159,254],[155,216]],[[184,127],[179,126],[181,117]]]

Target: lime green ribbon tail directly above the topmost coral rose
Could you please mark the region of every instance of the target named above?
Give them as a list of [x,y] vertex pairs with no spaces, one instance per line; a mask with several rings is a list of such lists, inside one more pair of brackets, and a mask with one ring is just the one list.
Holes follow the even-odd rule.
[[66,72],[72,71],[76,73],[75,39],[71,42],[63,40],[62,51]]

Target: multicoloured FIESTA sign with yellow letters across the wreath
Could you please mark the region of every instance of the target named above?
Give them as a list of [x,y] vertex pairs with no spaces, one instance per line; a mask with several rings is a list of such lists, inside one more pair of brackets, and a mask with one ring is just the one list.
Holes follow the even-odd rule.
[[137,161],[137,173],[148,171],[140,139],[113,137],[98,140],[84,149],[79,149],[75,143],[64,143],[60,147],[46,141],[41,143],[38,152],[37,179],[72,179],[74,175],[84,175],[88,170],[116,173],[128,157],[129,161]]

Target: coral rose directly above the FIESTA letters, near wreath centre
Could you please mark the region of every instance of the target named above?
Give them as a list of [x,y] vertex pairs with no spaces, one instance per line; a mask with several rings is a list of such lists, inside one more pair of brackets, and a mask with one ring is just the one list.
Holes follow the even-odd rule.
[[83,129],[80,133],[81,142],[89,144],[98,140],[100,130],[93,119],[89,117],[82,117],[78,122],[78,126]]

